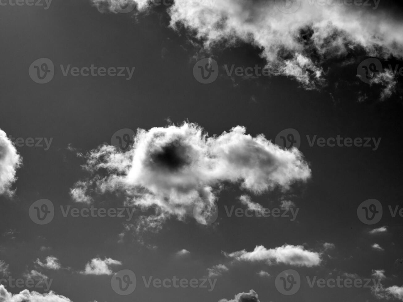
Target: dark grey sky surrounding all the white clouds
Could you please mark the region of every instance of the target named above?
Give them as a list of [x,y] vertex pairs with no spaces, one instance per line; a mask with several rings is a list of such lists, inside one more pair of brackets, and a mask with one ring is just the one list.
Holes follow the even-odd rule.
[[[392,5],[381,0],[380,11],[392,15]],[[46,151],[44,147],[17,146],[23,166],[13,185],[15,196],[0,196],[0,260],[9,265],[10,274],[20,278],[34,269],[36,259],[43,261],[53,255],[63,268],[42,272],[53,279],[51,290],[74,302],[218,301],[251,289],[261,302],[377,301],[368,288],[309,288],[305,278],[326,278],[329,272],[369,278],[373,269],[385,270],[389,277],[385,287],[401,286],[402,266],[395,261],[403,257],[403,218],[392,218],[388,211],[388,205],[400,207],[403,200],[401,91],[380,101],[379,91],[373,92],[376,87],[370,90],[355,77],[357,65],[332,68],[330,84],[320,90],[305,90],[286,76],[231,79],[224,64],[265,64],[261,49],[246,43],[215,49],[212,56],[220,74],[212,84],[201,84],[192,70],[195,58],[207,55],[189,43],[189,33],[168,28],[168,22],[162,8],[138,15],[100,13],[86,0],[54,0],[48,10],[1,7],[0,128],[15,138],[53,138]],[[56,72],[47,84],[37,84],[29,77],[28,68],[38,58],[54,63]],[[135,67],[135,71],[131,80],[73,77],[63,76],[60,64],[80,68],[91,64],[127,66]],[[358,90],[366,91],[366,101],[357,102]],[[118,243],[124,218],[64,218],[57,211],[45,226],[29,219],[28,209],[38,199],[49,199],[56,208],[83,207],[73,202],[69,190],[87,177],[80,166],[84,160],[67,149],[69,144],[85,153],[109,143],[119,129],[164,127],[167,119],[175,124],[197,123],[210,135],[243,125],[251,136],[264,134],[272,142],[283,129],[296,129],[301,136],[299,150],[312,170],[306,183],[295,184],[287,193],[299,208],[297,219],[226,217],[224,206],[243,207],[237,197],[246,193],[231,184],[219,195],[217,225],[170,219],[158,234],[143,236],[145,245],[139,244],[135,232]],[[315,135],[381,140],[377,150],[310,146],[307,136]],[[279,207],[283,193],[276,189],[249,195],[254,202],[273,208]],[[357,217],[357,207],[366,199],[378,199],[383,206],[382,220],[374,226],[363,224]],[[121,207],[123,201],[124,197],[113,194],[97,199],[98,205],[107,208]],[[368,234],[381,226],[387,226],[387,232]],[[12,229],[15,234],[7,235]],[[320,251],[325,242],[335,248],[322,254],[319,267],[297,268],[304,277],[301,289],[293,296],[280,294],[274,278],[280,271],[295,267],[231,264],[222,254],[253,251],[256,245],[269,249],[283,244]],[[372,249],[374,243],[384,251]],[[147,244],[158,248],[149,249]],[[40,251],[41,247],[50,249]],[[175,256],[182,249],[190,254]],[[110,287],[110,275],[78,273],[96,257],[121,261],[123,265],[113,267],[114,271],[135,271],[135,292],[119,296]],[[145,288],[141,280],[142,275],[202,278],[207,268],[220,263],[229,271],[218,277],[212,292]],[[261,270],[270,277],[258,276]],[[8,291],[17,294],[21,289],[8,287]]]

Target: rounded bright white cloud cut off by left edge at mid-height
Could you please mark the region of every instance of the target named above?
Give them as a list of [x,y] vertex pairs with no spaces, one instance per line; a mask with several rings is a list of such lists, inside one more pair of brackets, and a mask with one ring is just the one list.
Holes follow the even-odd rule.
[[8,139],[6,132],[0,129],[0,195],[13,195],[11,185],[17,180],[17,169],[22,165],[22,158]]

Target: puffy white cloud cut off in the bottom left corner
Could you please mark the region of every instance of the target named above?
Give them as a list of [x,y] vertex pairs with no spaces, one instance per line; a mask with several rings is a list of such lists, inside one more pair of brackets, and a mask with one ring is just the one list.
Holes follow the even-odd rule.
[[72,302],[69,298],[56,295],[50,291],[46,294],[39,294],[38,292],[29,292],[29,290],[23,290],[19,294],[11,294],[0,285],[0,302]]

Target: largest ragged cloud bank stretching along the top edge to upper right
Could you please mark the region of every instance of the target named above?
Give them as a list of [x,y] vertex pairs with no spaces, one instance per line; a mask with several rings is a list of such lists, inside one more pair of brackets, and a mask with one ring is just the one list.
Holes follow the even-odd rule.
[[[116,12],[129,3],[142,12],[154,6],[147,0],[92,0],[98,10]],[[372,6],[320,5],[319,1],[293,1],[293,13],[281,11],[282,1],[175,0],[167,10],[170,26],[195,33],[211,50],[218,44],[239,41],[262,49],[272,74],[295,78],[307,89],[324,86],[326,63],[344,64],[349,54],[402,57],[403,23]],[[362,4],[362,3],[361,3]],[[385,91],[385,96],[390,89]]]

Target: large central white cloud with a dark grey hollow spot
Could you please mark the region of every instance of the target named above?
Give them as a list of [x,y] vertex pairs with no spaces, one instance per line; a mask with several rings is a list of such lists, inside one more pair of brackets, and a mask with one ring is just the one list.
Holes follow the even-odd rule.
[[103,145],[85,160],[91,177],[72,191],[123,194],[127,206],[155,210],[158,226],[172,216],[184,221],[195,206],[213,209],[224,183],[262,194],[274,188],[285,191],[311,175],[296,148],[284,150],[263,135],[252,137],[242,126],[209,137],[202,127],[187,122],[138,129],[128,152]]

